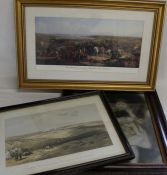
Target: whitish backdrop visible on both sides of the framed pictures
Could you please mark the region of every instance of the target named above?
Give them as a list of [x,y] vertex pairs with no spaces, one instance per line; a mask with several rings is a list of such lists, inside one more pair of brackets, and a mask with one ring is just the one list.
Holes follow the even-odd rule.
[[[14,0],[0,0],[0,106],[56,97],[51,91],[17,89]],[[167,15],[166,15],[167,16]],[[167,19],[165,20],[156,89],[167,115]]]

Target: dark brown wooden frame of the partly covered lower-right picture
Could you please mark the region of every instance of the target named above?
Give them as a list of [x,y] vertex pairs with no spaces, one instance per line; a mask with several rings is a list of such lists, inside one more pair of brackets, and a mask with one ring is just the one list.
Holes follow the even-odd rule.
[[[64,91],[64,95],[82,93],[82,91]],[[109,91],[106,92],[110,93]],[[119,93],[119,92],[116,92]],[[126,92],[134,93],[134,92]],[[166,175],[167,174],[167,122],[157,92],[143,92],[151,113],[152,125],[161,152],[162,164],[129,163],[96,168],[82,175]],[[107,96],[107,95],[106,95]]]

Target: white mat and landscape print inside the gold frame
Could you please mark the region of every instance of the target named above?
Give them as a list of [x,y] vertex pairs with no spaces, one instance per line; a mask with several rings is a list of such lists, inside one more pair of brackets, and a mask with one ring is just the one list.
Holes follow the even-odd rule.
[[25,14],[28,79],[146,81],[153,12],[26,7]]

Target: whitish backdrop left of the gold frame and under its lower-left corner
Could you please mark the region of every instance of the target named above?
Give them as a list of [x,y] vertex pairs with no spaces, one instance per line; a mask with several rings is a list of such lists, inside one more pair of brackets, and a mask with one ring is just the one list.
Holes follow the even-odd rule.
[[60,96],[54,91],[17,88],[14,0],[0,0],[0,107]]

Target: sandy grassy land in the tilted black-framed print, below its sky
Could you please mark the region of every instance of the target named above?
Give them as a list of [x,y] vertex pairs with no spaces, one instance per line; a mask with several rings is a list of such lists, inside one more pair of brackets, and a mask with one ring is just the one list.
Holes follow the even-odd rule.
[[[111,145],[102,122],[89,122],[52,129],[46,132],[10,137],[6,139],[6,152],[17,147],[23,150],[20,160],[10,158],[7,166],[44,160]],[[24,155],[29,152],[29,155]]]

